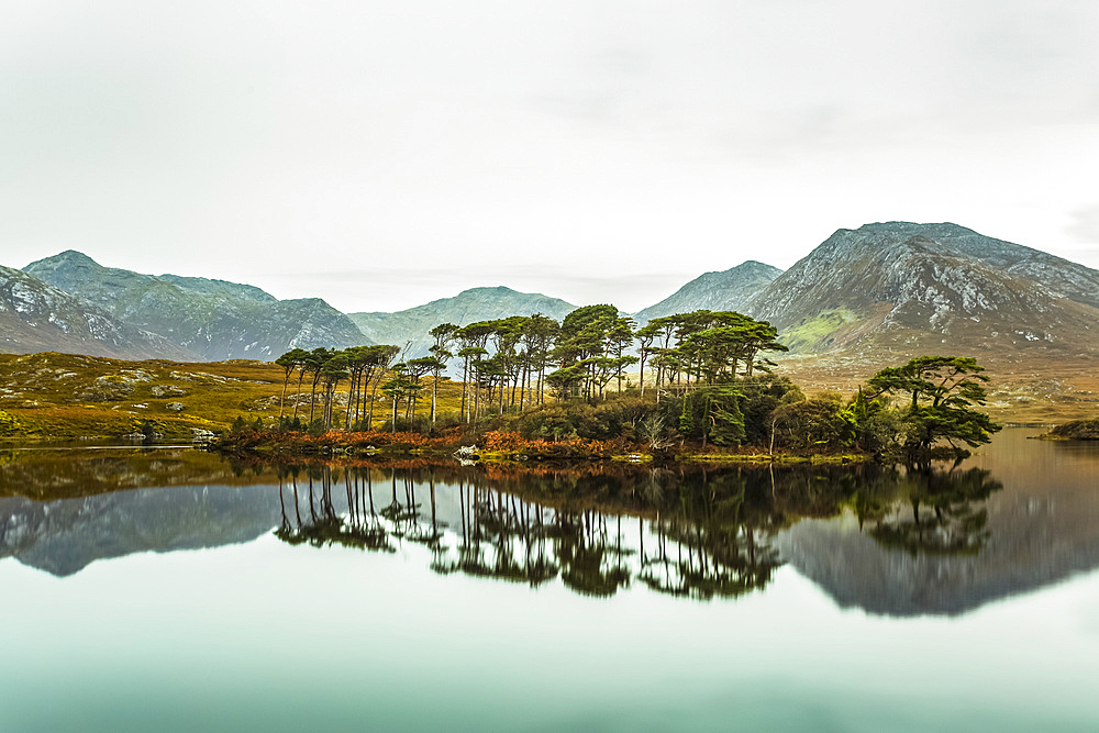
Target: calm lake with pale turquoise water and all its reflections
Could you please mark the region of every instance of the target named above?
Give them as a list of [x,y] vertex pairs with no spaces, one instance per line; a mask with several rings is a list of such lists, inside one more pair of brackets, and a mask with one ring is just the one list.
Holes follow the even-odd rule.
[[[0,451],[0,730],[1099,730],[1099,445]],[[345,462],[346,464],[346,462]]]

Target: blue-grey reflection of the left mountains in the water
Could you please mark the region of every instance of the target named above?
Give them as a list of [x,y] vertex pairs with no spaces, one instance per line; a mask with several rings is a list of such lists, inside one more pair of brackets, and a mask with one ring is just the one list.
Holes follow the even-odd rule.
[[108,557],[249,542],[278,521],[270,486],[134,489],[45,503],[0,498],[0,558],[66,576]]

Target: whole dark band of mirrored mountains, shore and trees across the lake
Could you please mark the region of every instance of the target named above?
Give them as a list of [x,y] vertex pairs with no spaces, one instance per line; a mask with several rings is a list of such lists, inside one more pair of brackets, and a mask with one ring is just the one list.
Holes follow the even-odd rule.
[[[424,569],[593,597],[629,587],[733,597],[788,563],[844,607],[958,613],[1099,567],[1096,454],[1006,445],[931,473],[425,459],[243,467],[171,454],[137,456],[133,470],[118,455],[67,474],[9,464],[0,475],[30,481],[44,501],[0,498],[0,558],[69,575],[98,558],[274,531],[291,544],[369,552],[415,543],[430,549]],[[210,485],[173,486],[173,476]],[[135,488],[109,491],[112,481]],[[147,488],[154,481],[169,488]]]

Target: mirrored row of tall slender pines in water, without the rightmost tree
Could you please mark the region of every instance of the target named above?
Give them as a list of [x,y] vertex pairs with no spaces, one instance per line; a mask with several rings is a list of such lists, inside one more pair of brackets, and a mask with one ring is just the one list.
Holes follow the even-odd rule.
[[[635,578],[675,596],[736,596],[764,587],[778,566],[766,538],[774,527],[752,523],[759,515],[745,508],[743,480],[733,481],[734,496],[715,499],[704,475],[699,481],[645,471],[641,493],[634,485],[629,497],[648,511],[623,515],[585,506],[578,488],[623,495],[622,476],[528,477],[528,493],[548,500],[540,503],[499,488],[514,477],[496,473],[493,481],[477,470],[455,477],[436,467],[388,476],[368,468],[292,470],[280,490],[276,534],[291,544],[382,552],[411,541],[432,549],[436,573],[531,586],[559,577],[576,592],[596,597],[613,596]],[[446,480],[445,488],[437,480]],[[456,507],[452,501],[441,511],[441,488],[452,497],[456,492]],[[333,504],[334,491],[346,498],[343,514]]]

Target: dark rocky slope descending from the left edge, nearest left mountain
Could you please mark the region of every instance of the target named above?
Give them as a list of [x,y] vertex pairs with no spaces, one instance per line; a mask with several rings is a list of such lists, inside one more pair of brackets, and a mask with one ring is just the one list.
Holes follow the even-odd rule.
[[0,266],[0,351],[181,358],[167,340],[18,269]]

